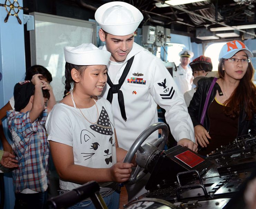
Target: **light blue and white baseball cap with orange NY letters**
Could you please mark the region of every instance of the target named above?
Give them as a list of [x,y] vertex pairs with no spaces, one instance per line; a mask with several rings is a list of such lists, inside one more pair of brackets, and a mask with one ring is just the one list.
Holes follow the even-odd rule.
[[241,41],[234,40],[227,42],[220,50],[219,61],[221,58],[229,59],[233,57],[238,51],[244,51],[248,58],[253,58],[253,53]]

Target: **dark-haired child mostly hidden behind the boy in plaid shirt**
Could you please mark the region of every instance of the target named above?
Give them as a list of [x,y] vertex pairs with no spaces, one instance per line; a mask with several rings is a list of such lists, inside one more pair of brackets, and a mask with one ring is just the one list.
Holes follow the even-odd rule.
[[[41,65],[34,65],[27,69],[25,80],[31,80],[35,74],[41,74],[39,79],[42,81],[42,87],[44,89],[49,89],[50,99],[47,103],[47,106],[51,109],[56,103],[53,90],[49,84],[53,80],[53,78],[51,77],[51,73]],[[6,111],[14,110],[14,109],[15,109],[15,101],[13,97],[9,100],[9,102],[6,103],[5,106],[3,106],[0,109],[0,139],[3,145],[3,150],[8,151],[12,154],[13,154],[12,147],[7,141],[6,137],[4,136],[2,119],[6,117]]]

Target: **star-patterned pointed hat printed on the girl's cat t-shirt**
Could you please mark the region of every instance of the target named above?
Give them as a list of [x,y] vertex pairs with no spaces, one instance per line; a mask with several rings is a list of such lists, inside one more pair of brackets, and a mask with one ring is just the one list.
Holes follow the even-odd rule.
[[101,114],[99,115],[99,119],[96,125],[91,125],[91,129],[94,131],[101,133],[103,135],[113,135],[113,131],[111,128],[110,120],[107,114],[107,111],[102,106]]

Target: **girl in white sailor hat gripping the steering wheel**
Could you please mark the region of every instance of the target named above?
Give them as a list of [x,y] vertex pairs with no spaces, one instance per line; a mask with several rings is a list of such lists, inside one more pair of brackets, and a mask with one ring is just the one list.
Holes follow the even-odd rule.
[[[118,147],[111,104],[98,97],[107,81],[110,52],[93,44],[65,47],[65,96],[47,118],[51,154],[64,193],[95,180],[108,208],[119,207],[117,182],[127,181],[132,163]],[[71,92],[71,84],[74,85]],[[108,183],[103,183],[108,182]],[[93,208],[90,199],[71,208]]]

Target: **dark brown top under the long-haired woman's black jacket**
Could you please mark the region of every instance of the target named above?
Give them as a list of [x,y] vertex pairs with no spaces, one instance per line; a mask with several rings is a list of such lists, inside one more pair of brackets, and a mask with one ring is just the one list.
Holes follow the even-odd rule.
[[198,151],[199,154],[206,156],[211,151],[216,150],[221,145],[228,145],[234,141],[238,132],[238,117],[230,118],[224,113],[225,106],[217,102],[216,98],[210,104],[208,115],[210,118],[209,145]]

